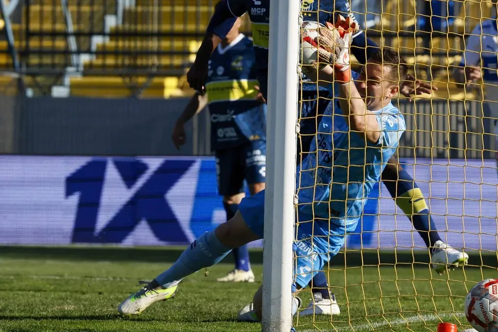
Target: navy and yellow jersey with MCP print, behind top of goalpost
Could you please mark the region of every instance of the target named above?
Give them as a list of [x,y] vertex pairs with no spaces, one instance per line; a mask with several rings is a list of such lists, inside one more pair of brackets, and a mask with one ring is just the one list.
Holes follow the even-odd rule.
[[[263,96],[267,96],[268,85],[268,41],[270,21],[270,0],[228,0],[232,14],[249,15],[252,28],[252,42],[256,55],[257,79],[261,84]],[[320,5],[320,7],[319,7]],[[351,12],[348,0],[301,0],[303,20],[319,21],[325,24],[337,14],[349,15],[356,18]],[[361,32],[360,32],[361,33]],[[315,90],[316,84],[304,84],[304,90]],[[320,89],[323,90],[323,89]]]

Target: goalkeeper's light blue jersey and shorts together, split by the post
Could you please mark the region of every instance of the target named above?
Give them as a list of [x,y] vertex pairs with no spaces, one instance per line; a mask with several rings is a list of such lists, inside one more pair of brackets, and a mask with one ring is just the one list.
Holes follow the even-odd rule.
[[[301,287],[340,251],[347,235],[355,231],[367,197],[380,181],[380,174],[406,128],[403,115],[388,104],[373,111],[381,133],[378,142],[367,143],[358,133],[350,132],[337,104],[335,99],[321,116],[312,152],[297,168],[294,274]],[[244,221],[259,237],[263,237],[264,231],[264,196],[262,190],[244,198],[239,205]]]

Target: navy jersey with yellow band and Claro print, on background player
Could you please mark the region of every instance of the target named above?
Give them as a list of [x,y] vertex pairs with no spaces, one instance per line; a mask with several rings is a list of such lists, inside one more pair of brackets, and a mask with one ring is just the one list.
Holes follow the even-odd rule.
[[266,140],[266,105],[255,100],[254,61],[252,42],[242,33],[211,55],[206,93],[213,150]]

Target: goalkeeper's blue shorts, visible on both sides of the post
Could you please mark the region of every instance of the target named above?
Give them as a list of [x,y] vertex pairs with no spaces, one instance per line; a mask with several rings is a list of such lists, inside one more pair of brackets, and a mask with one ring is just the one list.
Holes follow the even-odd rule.
[[[239,204],[239,212],[249,229],[261,238],[264,231],[264,192],[262,190],[254,196],[245,197]],[[295,282],[301,287],[306,287],[322,267],[339,252],[346,240],[346,234],[354,232],[358,222],[347,226],[328,221],[312,222],[313,217],[302,212],[299,212],[297,221],[298,241],[294,242]]]

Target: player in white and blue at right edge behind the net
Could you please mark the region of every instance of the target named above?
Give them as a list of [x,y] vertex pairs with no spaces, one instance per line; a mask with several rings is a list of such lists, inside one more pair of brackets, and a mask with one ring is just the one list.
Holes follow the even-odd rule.
[[[465,52],[460,66],[455,68],[453,77],[462,88],[481,87],[483,80],[485,107],[489,114],[484,116],[493,120],[495,126],[495,147],[498,147],[498,23],[497,19],[483,20],[476,25],[465,42]],[[495,154],[498,172],[498,151]]]

